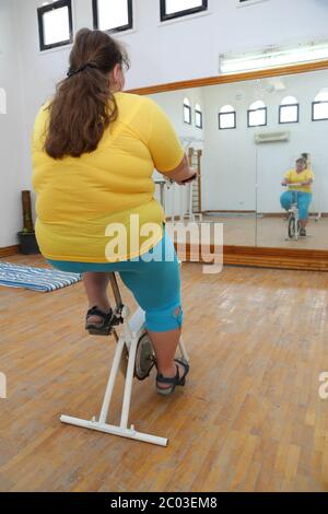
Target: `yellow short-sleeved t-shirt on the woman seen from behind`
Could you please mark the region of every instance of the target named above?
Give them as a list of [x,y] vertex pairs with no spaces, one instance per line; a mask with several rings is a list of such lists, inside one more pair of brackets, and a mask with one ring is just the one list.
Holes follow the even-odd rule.
[[[48,259],[127,260],[149,252],[163,236],[165,213],[154,198],[152,175],[154,168],[165,173],[178,166],[184,149],[155,102],[122,92],[115,97],[118,119],[106,129],[97,149],[81,157],[50,157],[44,151],[48,104],[36,117],[32,138],[35,232]],[[150,222],[157,230],[147,234]],[[116,223],[120,224],[117,231]],[[138,225],[144,232],[139,233]],[[115,245],[124,231],[126,243]]]

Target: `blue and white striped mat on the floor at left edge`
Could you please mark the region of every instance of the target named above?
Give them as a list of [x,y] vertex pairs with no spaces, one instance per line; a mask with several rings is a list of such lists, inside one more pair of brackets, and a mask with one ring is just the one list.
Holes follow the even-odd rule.
[[0,261],[0,285],[24,288],[32,291],[50,292],[81,280],[79,273],[66,273],[45,268],[17,266]]

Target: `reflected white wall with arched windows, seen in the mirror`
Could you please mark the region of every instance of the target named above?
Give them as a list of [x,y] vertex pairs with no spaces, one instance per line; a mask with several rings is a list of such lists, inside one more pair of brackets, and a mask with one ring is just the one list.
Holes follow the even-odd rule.
[[[281,211],[280,182],[300,153],[308,152],[316,175],[312,210],[328,212],[328,121],[312,121],[312,102],[321,87],[328,87],[328,71],[283,77],[281,81],[285,90],[271,93],[266,89],[266,80],[260,84],[251,81],[203,89],[204,210]],[[241,94],[243,100],[236,100]],[[280,102],[290,95],[300,102],[300,122],[279,125]],[[263,101],[268,107],[267,127],[247,127],[247,109],[256,100]],[[237,128],[234,130],[218,128],[218,112],[225,104],[236,109]],[[291,132],[289,142],[255,144],[256,131],[281,130]]]

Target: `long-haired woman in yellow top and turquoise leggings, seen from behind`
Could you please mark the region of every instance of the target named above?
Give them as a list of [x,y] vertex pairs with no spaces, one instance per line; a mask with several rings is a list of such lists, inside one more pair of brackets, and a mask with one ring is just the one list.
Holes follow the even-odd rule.
[[119,272],[145,311],[156,388],[167,395],[184,385],[189,367],[174,359],[183,324],[179,266],[152,175],[156,168],[184,184],[196,172],[163,110],[122,92],[128,66],[105,32],[77,34],[67,78],[35,120],[35,229],[52,267],[83,274],[92,334],[108,334],[109,272]]

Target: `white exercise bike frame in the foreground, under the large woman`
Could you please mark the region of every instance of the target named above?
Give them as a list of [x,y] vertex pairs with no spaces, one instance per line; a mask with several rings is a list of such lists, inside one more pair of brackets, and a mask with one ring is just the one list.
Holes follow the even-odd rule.
[[[60,421],[62,423],[82,427],[84,429],[91,429],[98,432],[105,432],[112,435],[120,435],[121,437],[157,444],[160,446],[167,446],[168,440],[165,437],[159,437],[156,435],[138,432],[133,424],[128,428],[133,377],[139,381],[143,381],[150,375],[152,367],[155,365],[155,354],[150,337],[144,327],[144,311],[139,307],[130,317],[130,309],[122,304],[115,273],[110,273],[110,285],[113,289],[116,307],[114,309],[113,322],[108,328],[108,336],[113,335],[115,337],[117,347],[101,413],[97,419],[96,417],[93,417],[91,420],[83,420],[62,414],[60,417]],[[119,325],[122,326],[120,337],[116,331],[116,327]],[[187,362],[189,362],[189,358],[181,338],[179,340],[178,348],[181,357]],[[125,376],[125,388],[120,423],[119,425],[114,425],[108,424],[107,419],[109,417],[110,401],[119,371],[121,371]]]

